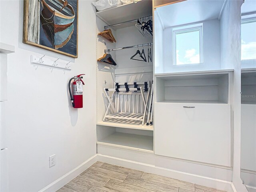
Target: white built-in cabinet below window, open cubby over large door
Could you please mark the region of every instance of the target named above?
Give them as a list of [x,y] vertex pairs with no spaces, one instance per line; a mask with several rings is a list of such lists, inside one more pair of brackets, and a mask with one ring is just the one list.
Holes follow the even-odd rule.
[[232,70],[155,80],[155,153],[230,167]]

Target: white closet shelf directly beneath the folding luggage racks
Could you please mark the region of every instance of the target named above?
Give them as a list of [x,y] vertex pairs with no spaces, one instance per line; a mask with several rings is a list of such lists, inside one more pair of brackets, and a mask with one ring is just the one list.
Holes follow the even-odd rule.
[[138,122],[138,124],[124,124],[124,123],[118,123],[118,122],[101,121],[101,122],[98,122],[97,125],[127,128],[127,129],[149,130],[149,131],[154,130],[153,125],[146,125],[146,124],[142,125],[141,122]]

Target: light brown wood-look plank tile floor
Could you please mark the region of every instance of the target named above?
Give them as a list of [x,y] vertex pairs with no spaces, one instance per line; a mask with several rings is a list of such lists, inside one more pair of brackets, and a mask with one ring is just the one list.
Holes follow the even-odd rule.
[[58,192],[223,192],[193,183],[96,162]]

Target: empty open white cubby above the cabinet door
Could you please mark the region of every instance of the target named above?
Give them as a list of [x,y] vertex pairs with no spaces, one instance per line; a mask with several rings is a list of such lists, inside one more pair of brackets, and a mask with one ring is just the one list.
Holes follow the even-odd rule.
[[156,102],[228,104],[229,73],[156,76]]

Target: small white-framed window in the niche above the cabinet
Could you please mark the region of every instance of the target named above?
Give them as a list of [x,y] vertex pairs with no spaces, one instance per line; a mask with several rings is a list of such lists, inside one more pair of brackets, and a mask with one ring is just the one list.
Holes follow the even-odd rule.
[[203,24],[172,29],[173,65],[203,62]]

